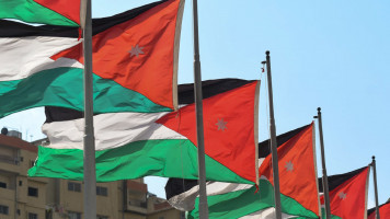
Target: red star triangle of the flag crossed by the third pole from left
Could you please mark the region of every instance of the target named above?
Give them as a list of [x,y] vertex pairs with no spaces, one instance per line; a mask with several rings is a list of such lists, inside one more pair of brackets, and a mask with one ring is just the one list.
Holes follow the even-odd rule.
[[[313,123],[277,148],[280,193],[319,215]],[[259,169],[273,183],[271,154]]]

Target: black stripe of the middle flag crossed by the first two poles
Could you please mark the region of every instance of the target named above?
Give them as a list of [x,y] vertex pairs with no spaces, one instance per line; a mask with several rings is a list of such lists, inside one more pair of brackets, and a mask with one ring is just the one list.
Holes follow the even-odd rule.
[[[219,93],[240,88],[244,84],[251,83],[253,81],[246,81],[241,79],[218,79],[203,81],[203,97],[207,99]],[[191,104],[194,103],[194,85],[192,83],[181,84],[177,88],[179,90],[179,104]],[[72,120],[83,117],[83,113],[55,106],[45,107],[46,122],[61,122],[61,120]]]

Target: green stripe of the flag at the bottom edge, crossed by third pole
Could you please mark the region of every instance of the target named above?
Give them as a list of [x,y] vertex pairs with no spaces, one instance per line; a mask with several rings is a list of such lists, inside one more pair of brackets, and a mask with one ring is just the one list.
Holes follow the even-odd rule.
[[[261,180],[259,187],[259,193],[255,193],[256,188],[253,186],[250,189],[208,196],[209,218],[240,218],[274,207],[274,187],[272,184],[266,180]],[[282,211],[285,214],[300,216],[302,218],[319,218],[314,212],[306,209],[290,197],[282,194],[280,200]],[[199,218],[198,204],[197,198],[195,209],[188,212],[187,218]]]

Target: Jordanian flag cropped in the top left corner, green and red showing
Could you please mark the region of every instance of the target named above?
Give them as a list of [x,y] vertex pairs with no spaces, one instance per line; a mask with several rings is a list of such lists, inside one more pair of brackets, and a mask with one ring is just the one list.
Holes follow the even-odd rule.
[[0,19],[79,26],[80,4],[81,0],[0,0]]

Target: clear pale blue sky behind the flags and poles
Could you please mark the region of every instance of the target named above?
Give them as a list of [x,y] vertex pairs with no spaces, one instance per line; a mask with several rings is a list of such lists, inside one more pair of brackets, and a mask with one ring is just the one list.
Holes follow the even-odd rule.
[[[93,0],[93,15],[113,15],[148,2]],[[376,155],[382,204],[390,198],[389,9],[387,0],[199,1],[202,77],[264,82],[261,61],[271,50],[277,134],[311,123],[321,106],[329,175],[359,169]],[[180,83],[194,80],[192,28],[192,1],[186,1]],[[268,138],[265,89],[263,83],[260,140]],[[38,139],[44,137],[44,119],[43,110],[34,110],[0,119],[0,126]],[[318,170],[321,176],[320,160]],[[164,178],[146,181],[152,193],[164,197]],[[369,184],[372,207],[372,177]]]

